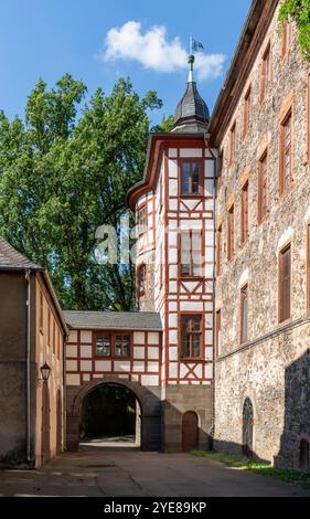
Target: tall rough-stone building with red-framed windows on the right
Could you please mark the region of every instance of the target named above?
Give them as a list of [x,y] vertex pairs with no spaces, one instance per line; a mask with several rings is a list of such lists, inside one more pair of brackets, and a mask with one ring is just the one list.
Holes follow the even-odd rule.
[[254,1],[209,131],[218,149],[215,444],[309,467],[309,63]]

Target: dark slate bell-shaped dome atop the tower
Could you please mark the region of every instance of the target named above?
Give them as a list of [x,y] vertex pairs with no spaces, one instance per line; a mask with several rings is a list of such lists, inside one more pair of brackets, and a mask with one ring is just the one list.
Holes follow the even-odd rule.
[[190,121],[207,124],[210,120],[209,108],[201,97],[195,82],[189,82],[185,94],[177,106],[174,115],[174,127]]

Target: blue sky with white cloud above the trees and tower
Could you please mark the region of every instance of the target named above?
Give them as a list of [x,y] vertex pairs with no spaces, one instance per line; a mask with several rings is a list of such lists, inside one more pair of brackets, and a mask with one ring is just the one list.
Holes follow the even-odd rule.
[[109,93],[129,76],[140,96],[156,89],[173,114],[188,80],[192,34],[204,45],[195,80],[212,110],[250,0],[0,0],[0,109],[24,115],[42,77],[52,87],[65,73],[83,80],[88,96]]

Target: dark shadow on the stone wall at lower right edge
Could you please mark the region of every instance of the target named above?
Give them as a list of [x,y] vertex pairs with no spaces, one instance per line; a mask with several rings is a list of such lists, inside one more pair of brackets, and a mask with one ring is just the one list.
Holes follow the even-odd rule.
[[286,369],[285,425],[275,466],[309,470],[310,350]]

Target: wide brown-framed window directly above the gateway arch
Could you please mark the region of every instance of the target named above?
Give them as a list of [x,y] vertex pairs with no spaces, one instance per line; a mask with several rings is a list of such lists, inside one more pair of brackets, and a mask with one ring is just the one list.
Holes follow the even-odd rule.
[[96,331],[94,333],[96,357],[130,357],[131,333]]

